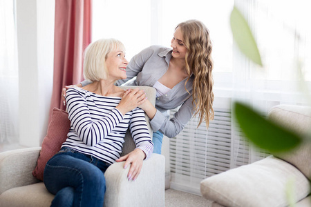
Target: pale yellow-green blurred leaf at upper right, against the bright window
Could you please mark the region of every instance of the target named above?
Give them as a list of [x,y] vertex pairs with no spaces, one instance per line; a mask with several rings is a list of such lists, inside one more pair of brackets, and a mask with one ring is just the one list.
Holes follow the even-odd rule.
[[236,7],[232,10],[230,25],[234,41],[236,41],[241,52],[254,61],[254,63],[257,63],[259,66],[263,66],[263,63],[261,62],[261,55],[259,54],[253,34],[249,29],[247,21]]

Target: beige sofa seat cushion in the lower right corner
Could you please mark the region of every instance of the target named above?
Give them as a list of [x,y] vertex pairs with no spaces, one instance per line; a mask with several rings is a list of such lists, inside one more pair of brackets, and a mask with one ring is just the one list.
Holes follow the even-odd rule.
[[221,172],[201,181],[206,199],[223,206],[288,206],[286,189],[294,180],[294,201],[310,193],[308,179],[297,168],[276,157]]

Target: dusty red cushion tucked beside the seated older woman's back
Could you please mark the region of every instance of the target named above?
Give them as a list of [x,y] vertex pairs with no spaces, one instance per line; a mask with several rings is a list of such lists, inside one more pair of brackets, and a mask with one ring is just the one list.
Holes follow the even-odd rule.
[[37,160],[37,166],[32,172],[32,175],[37,179],[43,181],[46,163],[60,150],[63,142],[66,141],[69,128],[70,120],[67,112],[53,108],[50,124],[48,124],[48,132],[42,142],[41,152]]

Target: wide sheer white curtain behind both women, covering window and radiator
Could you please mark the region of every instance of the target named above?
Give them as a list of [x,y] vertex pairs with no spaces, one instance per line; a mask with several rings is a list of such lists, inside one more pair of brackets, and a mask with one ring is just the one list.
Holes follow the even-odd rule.
[[[93,0],[93,3],[93,39],[122,40],[129,59],[151,44],[170,47],[173,31],[181,21],[198,19],[209,28],[213,42],[215,119],[208,130],[205,123],[196,128],[198,120],[191,119],[180,135],[169,139],[171,188],[200,195],[202,179],[267,156],[249,144],[234,124],[232,101],[246,101],[263,115],[280,103],[306,103],[296,84],[299,78],[296,60],[302,63],[305,78],[311,81],[308,1],[121,0],[115,4],[113,0]],[[234,45],[229,26],[234,4],[254,31],[263,68],[251,63]],[[115,12],[124,15],[109,18]],[[171,115],[175,111],[171,110]]]

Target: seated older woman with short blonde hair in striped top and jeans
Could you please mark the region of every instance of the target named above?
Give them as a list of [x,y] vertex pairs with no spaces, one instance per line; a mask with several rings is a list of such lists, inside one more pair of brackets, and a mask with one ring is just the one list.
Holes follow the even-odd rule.
[[[52,206],[103,206],[104,172],[115,161],[131,164],[128,178],[140,174],[142,161],[153,152],[144,111],[144,92],[114,85],[126,79],[124,46],[115,39],[100,39],[86,48],[84,77],[92,83],[66,92],[68,138],[46,164],[44,184],[55,194]],[[127,128],[135,150],[120,157]]]

